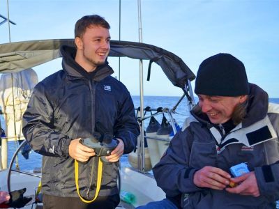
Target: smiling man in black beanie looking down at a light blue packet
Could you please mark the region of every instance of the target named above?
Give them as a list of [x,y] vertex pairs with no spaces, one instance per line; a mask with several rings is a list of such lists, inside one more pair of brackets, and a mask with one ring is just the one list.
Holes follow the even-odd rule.
[[279,105],[248,83],[231,54],[201,63],[195,93],[192,116],[153,169],[168,201],[181,196],[173,208],[276,208]]

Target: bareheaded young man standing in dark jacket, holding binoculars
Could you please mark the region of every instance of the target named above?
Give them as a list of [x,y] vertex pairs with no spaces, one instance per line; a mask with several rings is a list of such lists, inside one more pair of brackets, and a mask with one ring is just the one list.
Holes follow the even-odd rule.
[[[24,137],[43,155],[44,208],[115,208],[119,203],[119,158],[133,150],[140,130],[130,93],[110,76],[109,29],[98,15],[78,20],[76,48],[61,47],[63,70],[36,86],[24,113]],[[80,143],[96,132],[101,138],[112,134],[118,141],[111,155],[101,160],[100,192],[101,163],[93,148]],[[80,163],[74,165],[75,160]]]

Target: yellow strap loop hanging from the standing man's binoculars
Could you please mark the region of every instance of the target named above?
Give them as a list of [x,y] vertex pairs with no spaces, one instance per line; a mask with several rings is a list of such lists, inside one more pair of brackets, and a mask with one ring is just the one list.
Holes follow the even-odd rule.
[[99,192],[100,192],[100,183],[102,181],[102,173],[103,173],[103,162],[100,160],[100,157],[98,157],[98,158],[99,158],[99,162],[98,162],[96,193],[95,193],[94,198],[92,200],[89,200],[89,201],[82,198],[82,196],[80,195],[80,187],[78,185],[78,162],[77,162],[77,160],[75,160],[75,186],[77,187],[77,194],[80,196],[80,199],[84,203],[92,203],[93,201],[95,201]]

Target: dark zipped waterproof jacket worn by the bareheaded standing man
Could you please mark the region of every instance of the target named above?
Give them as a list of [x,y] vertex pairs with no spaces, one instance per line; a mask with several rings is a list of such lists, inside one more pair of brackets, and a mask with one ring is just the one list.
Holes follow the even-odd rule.
[[[96,123],[122,139],[124,153],[135,148],[139,125],[126,86],[110,76],[105,63],[86,72],[74,61],[75,49],[61,47],[63,70],[38,83],[23,116],[23,133],[32,149],[43,155],[43,194],[77,196],[74,160],[68,146],[72,139],[91,137]],[[93,199],[98,160],[79,164],[79,187],[84,199]],[[100,196],[117,194],[119,162],[104,162]]]

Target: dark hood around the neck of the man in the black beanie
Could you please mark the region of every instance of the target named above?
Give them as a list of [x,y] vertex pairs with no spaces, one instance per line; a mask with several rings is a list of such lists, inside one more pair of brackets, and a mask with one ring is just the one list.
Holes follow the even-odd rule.
[[[250,92],[248,95],[248,107],[247,114],[242,121],[242,127],[248,127],[257,121],[262,120],[269,108],[269,95],[262,88],[256,84],[249,84]],[[208,116],[203,114],[202,111],[197,111],[198,104],[193,108],[190,113],[199,121],[200,123],[207,125],[209,128],[213,124],[209,121]]]

